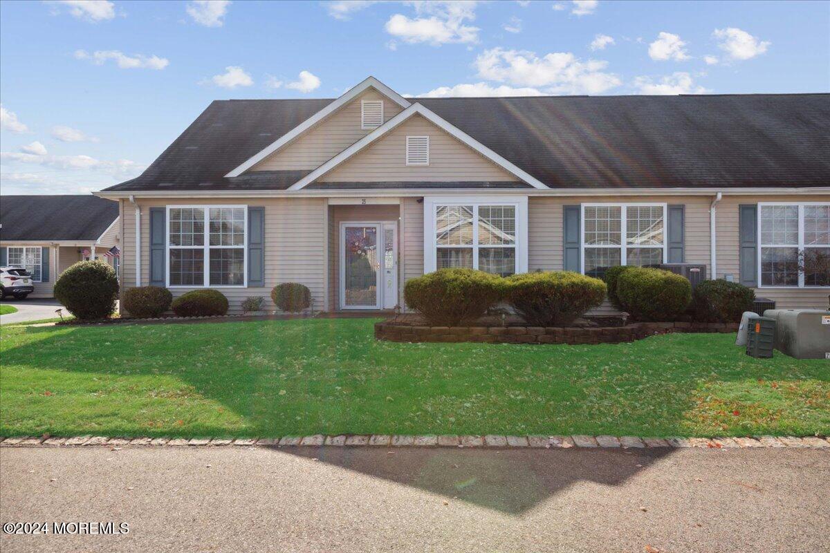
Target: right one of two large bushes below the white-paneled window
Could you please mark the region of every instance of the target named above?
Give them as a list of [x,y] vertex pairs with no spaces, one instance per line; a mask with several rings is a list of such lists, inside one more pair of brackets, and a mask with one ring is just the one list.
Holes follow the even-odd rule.
[[605,299],[602,280],[571,271],[514,274],[506,280],[505,299],[536,327],[572,323]]

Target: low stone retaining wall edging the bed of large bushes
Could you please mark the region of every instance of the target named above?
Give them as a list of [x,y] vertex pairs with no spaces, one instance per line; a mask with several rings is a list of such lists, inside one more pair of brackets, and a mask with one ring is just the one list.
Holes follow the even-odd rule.
[[389,342],[613,344],[671,332],[737,330],[738,323],[632,323],[623,327],[419,327],[389,320],[374,325],[374,337]]

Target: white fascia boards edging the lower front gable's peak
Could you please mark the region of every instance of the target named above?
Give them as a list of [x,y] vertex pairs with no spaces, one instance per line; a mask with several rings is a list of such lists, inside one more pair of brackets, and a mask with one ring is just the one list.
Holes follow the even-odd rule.
[[369,144],[373,143],[375,140],[382,137],[399,124],[402,124],[414,114],[422,115],[422,117],[427,119],[430,123],[451,134],[453,137],[457,138],[462,143],[465,143],[468,147],[476,150],[476,152],[480,153],[491,162],[496,163],[496,165],[504,168],[507,172],[515,175],[515,177],[519,177],[522,181],[527,182],[530,186],[542,190],[546,190],[548,188],[538,179],[532,177],[529,173],[522,171],[519,167],[516,167],[513,163],[510,163],[505,158],[502,158],[499,154],[493,152],[490,148],[487,148],[484,144],[480,143],[475,138],[472,138],[469,134],[465,133],[461,129],[458,129],[455,125],[447,122],[446,119],[443,119],[439,115],[435,114],[431,109],[428,109],[422,104],[412,104],[377,129],[374,129],[373,132],[367,134],[364,138],[361,138],[356,143],[349,146],[349,148],[344,149],[343,152],[340,152],[334,156],[334,158],[331,158],[329,161],[323,163],[320,167],[317,167],[314,171],[292,184],[291,187],[288,187],[288,190],[300,190],[311,182],[314,182],[316,179],[325,175],[325,173],[330,172],[334,167],[337,167],[340,163],[343,163],[347,159],[354,156],[355,153],[358,153],[366,146],[369,146]]

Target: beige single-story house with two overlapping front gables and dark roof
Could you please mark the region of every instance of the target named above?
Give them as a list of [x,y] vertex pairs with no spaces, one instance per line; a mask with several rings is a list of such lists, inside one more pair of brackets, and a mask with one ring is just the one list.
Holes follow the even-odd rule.
[[[282,282],[316,309],[403,305],[441,267],[499,274],[705,264],[780,307],[823,307],[830,95],[215,101],[120,202],[122,289]],[[270,298],[268,298],[270,303]]]

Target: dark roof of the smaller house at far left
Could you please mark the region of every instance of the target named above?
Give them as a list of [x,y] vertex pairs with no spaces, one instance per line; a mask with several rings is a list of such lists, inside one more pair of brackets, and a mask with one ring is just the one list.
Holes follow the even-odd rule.
[[0,196],[0,240],[98,240],[118,202],[83,196]]

